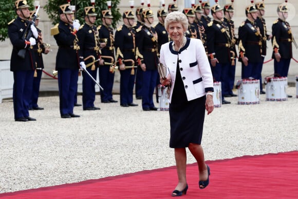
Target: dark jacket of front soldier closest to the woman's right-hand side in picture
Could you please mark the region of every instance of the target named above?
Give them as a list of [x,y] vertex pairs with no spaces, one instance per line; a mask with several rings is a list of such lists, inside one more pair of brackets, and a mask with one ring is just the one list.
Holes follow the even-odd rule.
[[[225,26],[227,26],[225,24]],[[214,58],[217,58],[218,62],[221,64],[225,64],[230,62],[230,48],[229,48],[229,40],[226,33],[221,32],[225,30],[222,22],[212,21],[208,24],[207,28],[207,50],[208,54],[215,53]],[[228,33],[229,34],[229,33]]]

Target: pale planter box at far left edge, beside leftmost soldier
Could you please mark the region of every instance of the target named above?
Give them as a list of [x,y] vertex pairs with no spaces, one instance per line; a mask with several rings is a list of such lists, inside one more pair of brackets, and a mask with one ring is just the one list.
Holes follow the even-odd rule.
[[10,60],[0,61],[0,103],[3,99],[12,98],[13,73],[10,71]]

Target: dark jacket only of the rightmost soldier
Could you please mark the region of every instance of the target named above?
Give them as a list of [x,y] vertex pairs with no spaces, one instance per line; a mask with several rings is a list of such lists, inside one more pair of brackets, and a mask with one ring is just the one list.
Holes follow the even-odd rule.
[[292,58],[292,32],[290,24],[281,19],[276,20],[272,25],[272,47],[281,54],[283,59]]

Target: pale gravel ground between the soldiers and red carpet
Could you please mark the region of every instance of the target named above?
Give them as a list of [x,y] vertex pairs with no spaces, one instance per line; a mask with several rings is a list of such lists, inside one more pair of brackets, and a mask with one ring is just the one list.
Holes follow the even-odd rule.
[[[296,96],[296,88],[288,94]],[[114,98],[119,100],[119,95]],[[207,116],[202,146],[206,160],[298,150],[298,99],[215,108]],[[169,148],[169,112],[144,112],[119,103],[99,111],[75,107],[80,118],[62,119],[59,98],[42,97],[38,121],[14,122],[12,100],[0,104],[0,193],[81,182],[175,165]],[[81,96],[79,97],[79,102]],[[156,104],[158,105],[158,104]],[[188,152],[188,163],[195,159]]]

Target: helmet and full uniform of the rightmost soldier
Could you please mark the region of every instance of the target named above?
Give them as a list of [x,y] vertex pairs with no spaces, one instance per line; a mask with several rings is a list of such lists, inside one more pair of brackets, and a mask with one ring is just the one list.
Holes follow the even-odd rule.
[[[288,12],[287,5],[281,4],[278,6],[279,12]],[[293,34],[290,24],[278,18],[272,25],[272,59],[274,59],[274,76],[287,77],[290,61],[293,57],[292,42]],[[276,61],[275,53],[280,53],[280,62]]]

